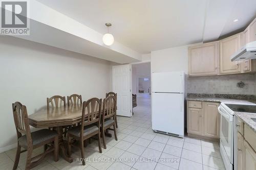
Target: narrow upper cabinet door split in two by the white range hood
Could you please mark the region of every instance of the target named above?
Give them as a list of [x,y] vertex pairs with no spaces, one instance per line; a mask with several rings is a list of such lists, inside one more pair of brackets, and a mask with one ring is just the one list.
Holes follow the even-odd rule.
[[[242,40],[241,40],[241,46],[244,46],[245,44],[247,44],[250,40],[250,36],[249,36],[249,27],[247,27],[247,29],[244,30],[244,32],[242,33]],[[247,72],[251,70],[251,60],[243,60],[242,62],[242,72]]]

